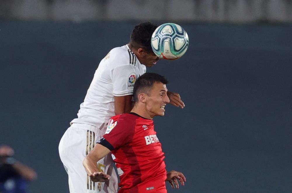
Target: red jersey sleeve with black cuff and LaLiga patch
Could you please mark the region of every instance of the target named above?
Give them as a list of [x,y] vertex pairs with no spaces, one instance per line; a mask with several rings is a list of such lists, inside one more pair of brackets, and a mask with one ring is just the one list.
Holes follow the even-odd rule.
[[135,123],[132,121],[118,120],[107,126],[105,134],[97,143],[107,147],[109,150],[117,149],[132,141],[135,131]]

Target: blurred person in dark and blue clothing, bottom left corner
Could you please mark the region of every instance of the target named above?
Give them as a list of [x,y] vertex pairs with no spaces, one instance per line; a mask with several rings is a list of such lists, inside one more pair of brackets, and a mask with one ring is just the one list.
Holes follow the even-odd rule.
[[16,161],[14,150],[6,145],[0,146],[0,192],[25,193],[27,183],[36,179],[36,172]]

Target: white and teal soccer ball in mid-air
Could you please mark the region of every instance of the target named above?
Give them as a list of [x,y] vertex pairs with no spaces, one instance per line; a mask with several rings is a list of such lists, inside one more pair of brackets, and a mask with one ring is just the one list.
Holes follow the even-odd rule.
[[178,24],[158,26],[151,37],[151,47],[160,59],[176,60],[185,54],[189,46],[187,32]]

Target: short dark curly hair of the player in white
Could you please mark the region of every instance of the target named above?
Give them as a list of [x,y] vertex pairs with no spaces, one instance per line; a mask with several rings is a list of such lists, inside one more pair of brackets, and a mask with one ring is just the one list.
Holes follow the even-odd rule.
[[147,53],[151,53],[151,36],[157,25],[151,22],[142,22],[136,25],[131,33],[130,44],[138,49],[143,48]]

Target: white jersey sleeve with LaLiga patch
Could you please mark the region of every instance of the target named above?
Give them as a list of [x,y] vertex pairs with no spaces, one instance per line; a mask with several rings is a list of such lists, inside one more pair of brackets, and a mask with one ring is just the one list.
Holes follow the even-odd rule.
[[119,65],[111,70],[114,96],[133,94],[133,87],[137,79],[135,66],[132,64]]

